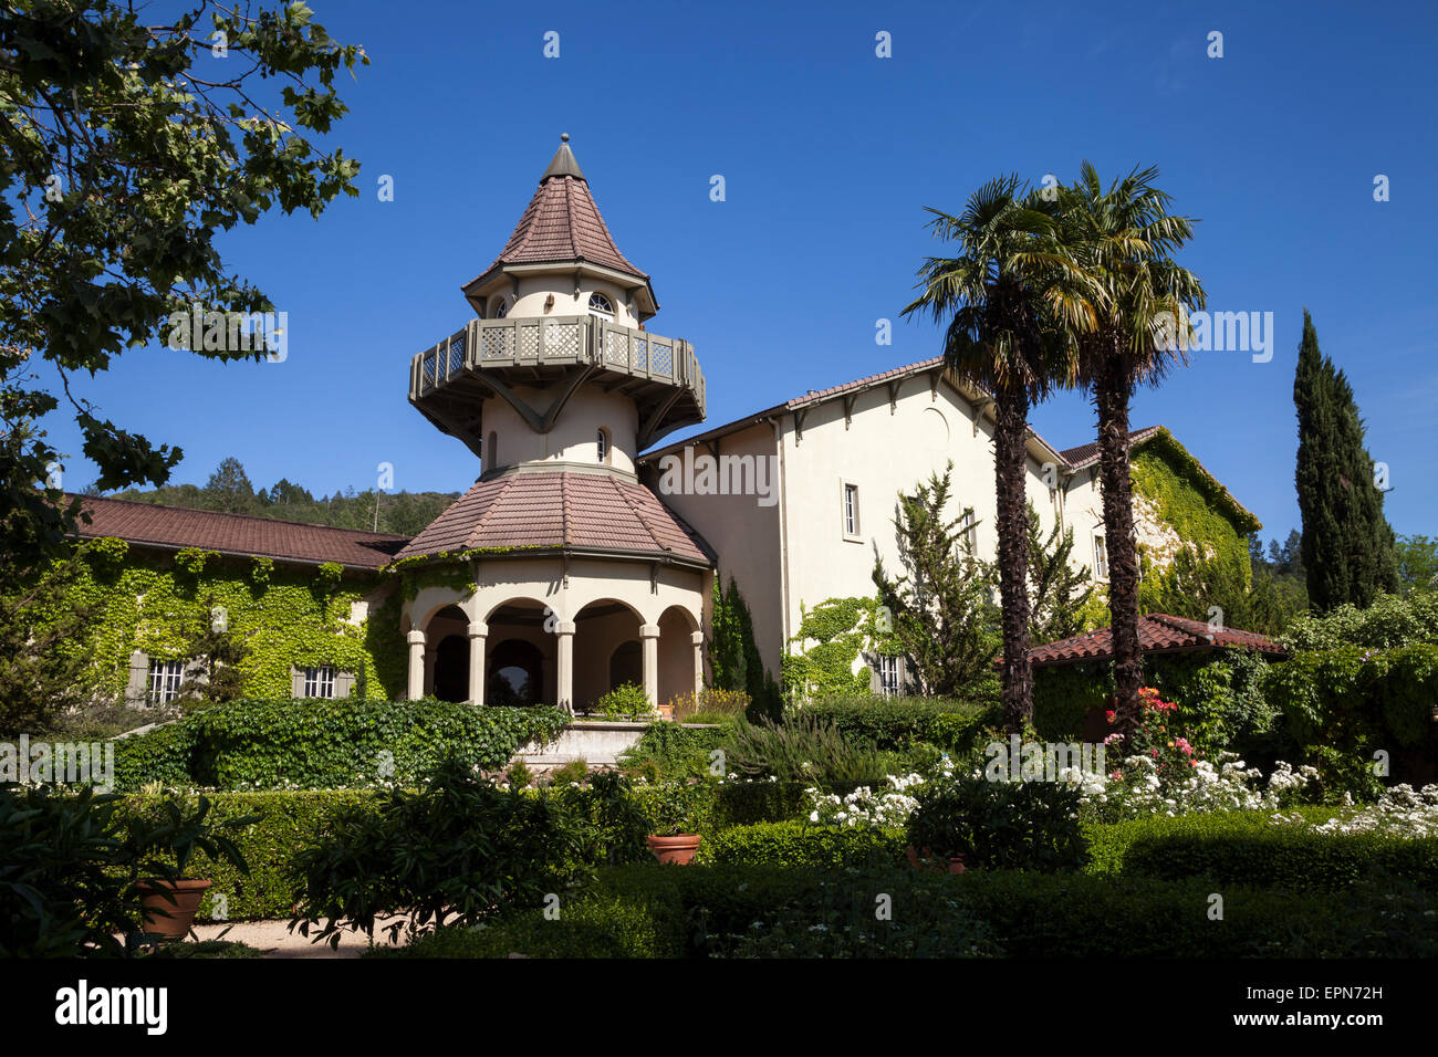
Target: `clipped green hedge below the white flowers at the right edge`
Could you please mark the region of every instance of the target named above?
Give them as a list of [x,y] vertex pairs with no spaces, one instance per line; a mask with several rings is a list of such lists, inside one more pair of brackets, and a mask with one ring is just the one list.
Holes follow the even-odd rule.
[[[1303,825],[1274,825],[1261,813],[1142,818],[1100,836],[1097,871],[1284,892],[1339,892],[1391,882],[1438,893],[1438,837],[1402,838],[1372,833],[1327,834]],[[1382,882],[1375,884],[1375,882]]]

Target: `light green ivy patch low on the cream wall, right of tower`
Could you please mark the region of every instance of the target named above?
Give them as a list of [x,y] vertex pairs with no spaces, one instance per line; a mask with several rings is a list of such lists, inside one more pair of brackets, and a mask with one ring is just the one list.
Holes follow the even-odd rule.
[[854,670],[860,651],[903,653],[886,617],[877,598],[825,598],[812,610],[800,603],[798,631],[784,651],[784,693],[807,697],[869,693],[869,666]]

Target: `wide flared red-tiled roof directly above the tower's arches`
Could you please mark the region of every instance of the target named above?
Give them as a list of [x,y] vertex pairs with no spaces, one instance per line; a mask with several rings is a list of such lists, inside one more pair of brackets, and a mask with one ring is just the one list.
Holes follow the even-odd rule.
[[569,546],[712,562],[699,534],[643,485],[559,470],[476,482],[397,557],[487,546]]

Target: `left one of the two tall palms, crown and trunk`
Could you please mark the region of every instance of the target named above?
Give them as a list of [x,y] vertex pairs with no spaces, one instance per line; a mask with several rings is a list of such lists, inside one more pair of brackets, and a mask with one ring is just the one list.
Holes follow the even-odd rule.
[[[994,397],[1004,720],[1020,731],[1034,712],[1028,659],[1028,408],[1071,381],[1074,341],[1055,335],[1093,325],[1090,299],[1077,293],[1070,262],[1057,252],[1051,203],[1017,175],[984,184],[963,213],[930,209],[929,227],[956,242],[955,257],[929,257],[919,269],[923,293],[903,315],[946,324],[946,365]],[[1086,288],[1084,288],[1086,289]]]

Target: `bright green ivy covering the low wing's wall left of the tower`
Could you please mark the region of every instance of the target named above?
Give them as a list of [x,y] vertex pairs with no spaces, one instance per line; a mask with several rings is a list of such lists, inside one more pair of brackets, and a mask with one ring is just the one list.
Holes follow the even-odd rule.
[[[289,697],[290,667],[321,664],[352,672],[358,697],[404,695],[398,591],[380,572],[276,565],[197,548],[167,555],[122,539],[89,541],[79,554],[83,574],[70,598],[93,605],[89,644],[104,689],[116,699],[135,650],[162,660],[191,656],[211,605],[224,608],[230,633],[249,647],[240,664],[247,696]],[[388,598],[351,624],[351,605],[375,603],[378,591]]]

